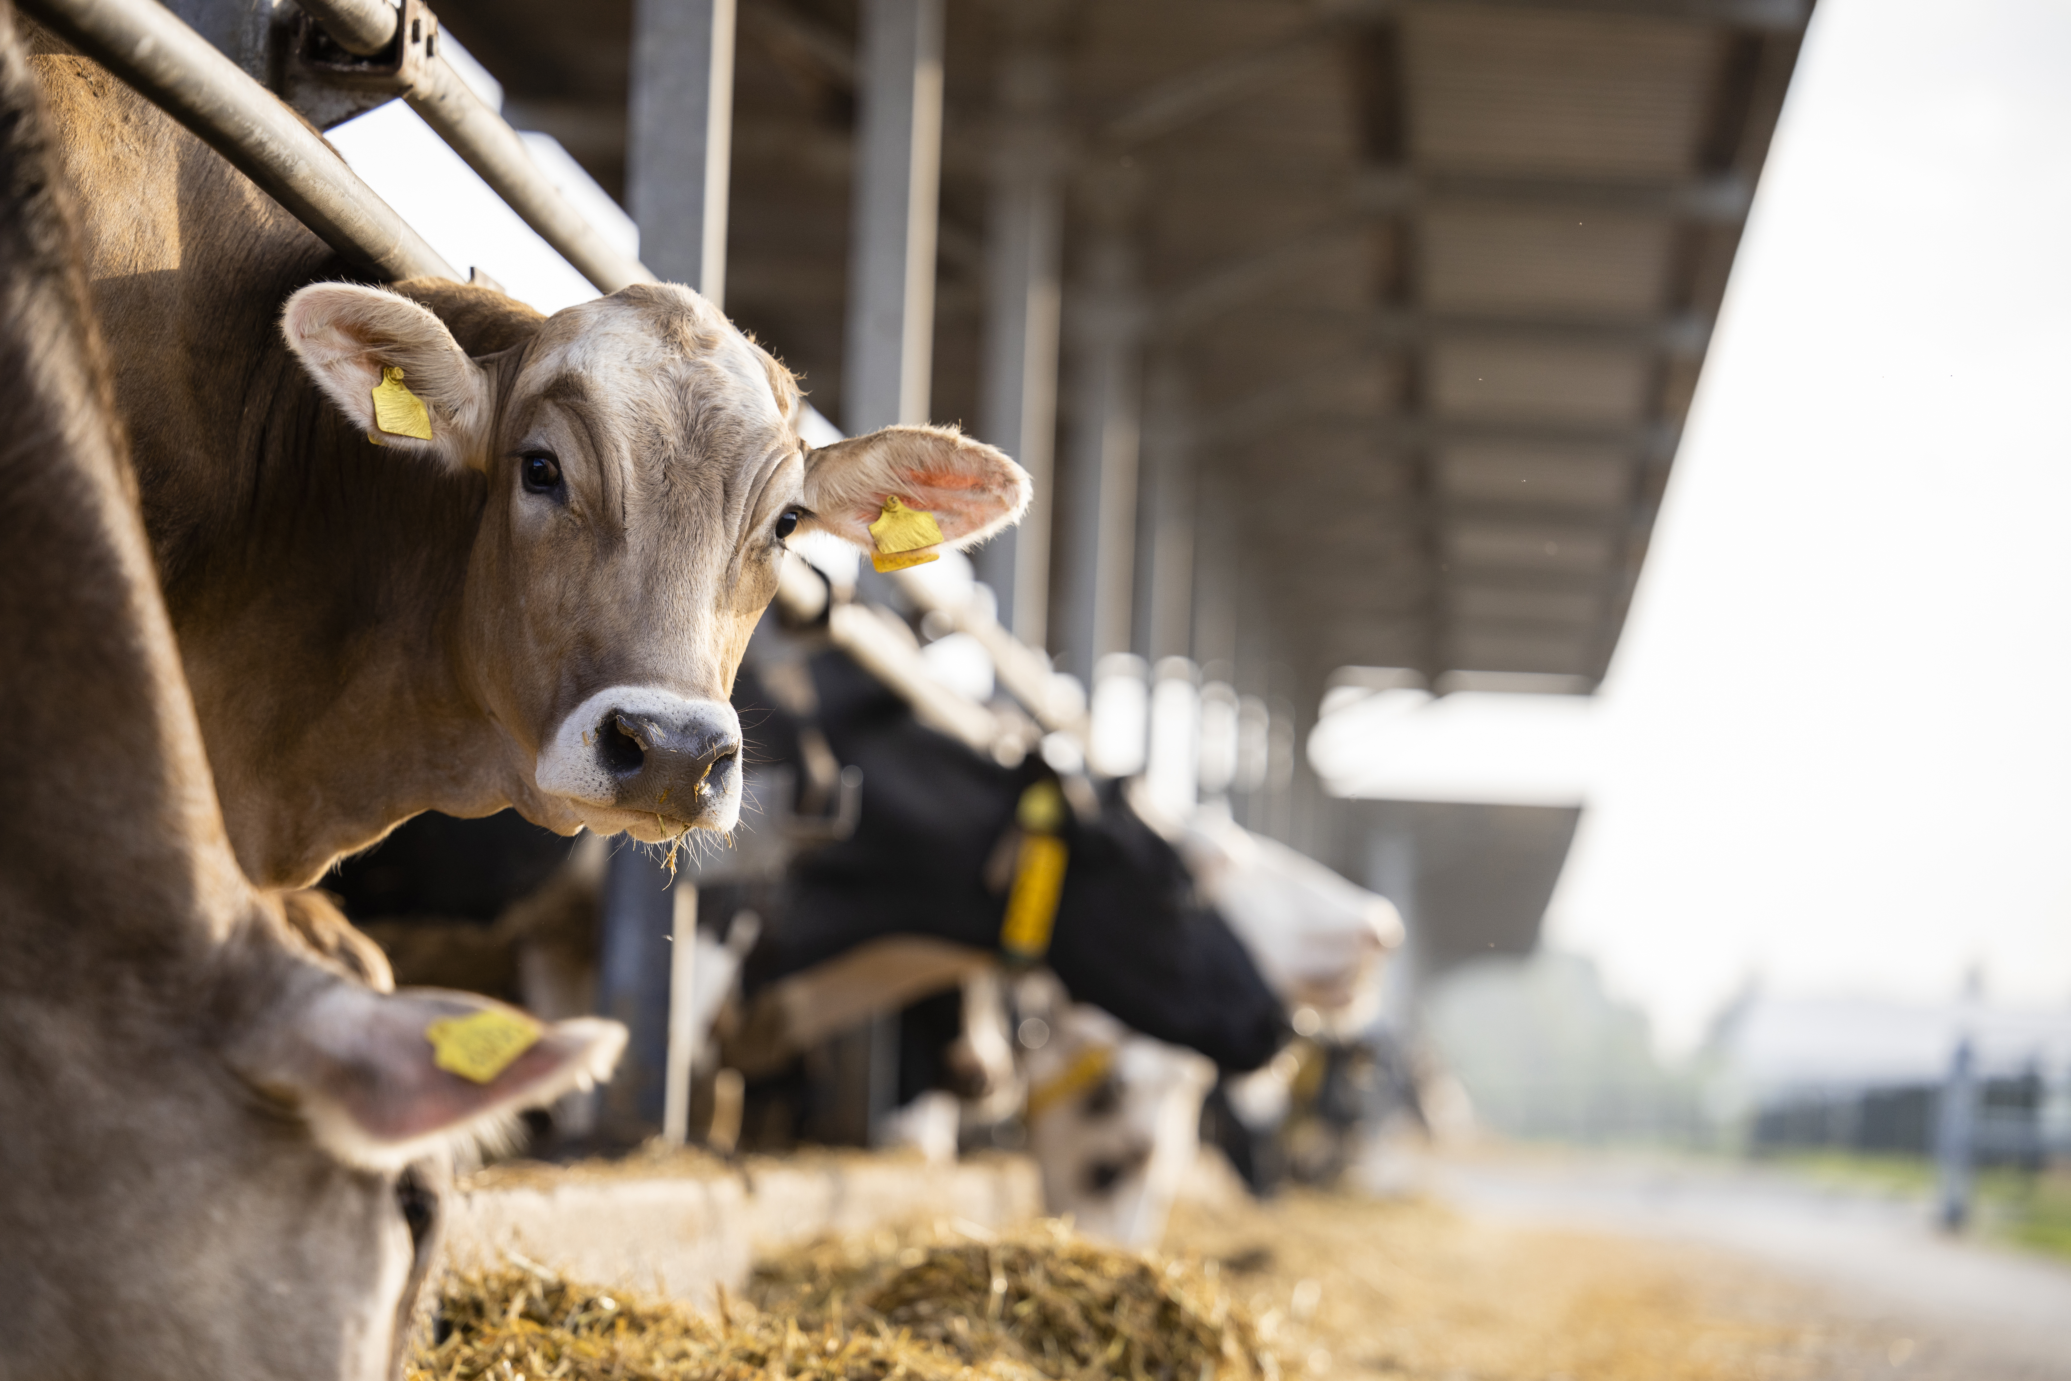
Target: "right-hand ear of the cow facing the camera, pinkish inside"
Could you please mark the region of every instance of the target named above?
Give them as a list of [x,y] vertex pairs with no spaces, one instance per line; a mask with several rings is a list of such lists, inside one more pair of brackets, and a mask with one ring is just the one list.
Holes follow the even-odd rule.
[[886,427],[806,456],[806,528],[874,551],[884,501],[932,513],[944,547],[973,547],[1021,522],[1029,476],[955,427]]

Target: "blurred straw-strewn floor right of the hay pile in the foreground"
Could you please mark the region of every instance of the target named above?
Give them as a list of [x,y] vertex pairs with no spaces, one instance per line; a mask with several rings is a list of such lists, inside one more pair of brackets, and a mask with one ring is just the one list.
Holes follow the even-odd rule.
[[2048,1375],[1982,1369],[1945,1340],[1899,1335],[1740,1255],[1510,1226],[1427,1199],[1193,1195],[1164,1246],[1222,1263],[1290,1381]]

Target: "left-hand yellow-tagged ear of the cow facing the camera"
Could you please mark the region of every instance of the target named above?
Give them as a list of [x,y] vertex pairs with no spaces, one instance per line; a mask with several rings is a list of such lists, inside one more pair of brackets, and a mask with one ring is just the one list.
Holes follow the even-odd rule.
[[454,466],[485,464],[489,375],[427,308],[385,288],[311,284],[288,298],[280,329],[354,429]]

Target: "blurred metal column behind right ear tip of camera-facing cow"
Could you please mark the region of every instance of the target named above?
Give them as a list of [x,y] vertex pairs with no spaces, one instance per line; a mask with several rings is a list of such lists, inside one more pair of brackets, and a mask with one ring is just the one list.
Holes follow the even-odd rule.
[[1036,480],[1019,528],[978,551],[978,578],[1000,598],[1000,623],[1029,646],[1048,640],[1050,474],[1056,449],[1062,190],[1056,58],[1038,46],[1007,56],[1000,143],[986,224],[986,356],[980,435]]

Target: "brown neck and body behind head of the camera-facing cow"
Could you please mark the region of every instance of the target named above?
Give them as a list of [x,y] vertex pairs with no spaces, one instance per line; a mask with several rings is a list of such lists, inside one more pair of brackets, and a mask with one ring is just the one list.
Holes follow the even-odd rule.
[[93,64],[37,68],[238,861],[298,886],[420,810],[495,810],[451,660],[478,482],[348,433],[280,337],[352,269]]

